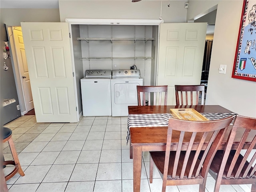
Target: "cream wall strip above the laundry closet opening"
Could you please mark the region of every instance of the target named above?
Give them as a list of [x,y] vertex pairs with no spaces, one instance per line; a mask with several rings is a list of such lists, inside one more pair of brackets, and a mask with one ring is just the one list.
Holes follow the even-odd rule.
[[[186,0],[162,1],[162,17],[165,23],[186,22]],[[60,21],[65,18],[94,19],[159,19],[160,0],[59,0]]]

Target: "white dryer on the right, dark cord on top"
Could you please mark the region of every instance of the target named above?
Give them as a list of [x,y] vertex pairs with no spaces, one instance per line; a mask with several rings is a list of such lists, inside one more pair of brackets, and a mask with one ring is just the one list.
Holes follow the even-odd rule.
[[138,105],[138,85],[143,85],[140,70],[112,70],[112,116],[128,116],[128,106]]

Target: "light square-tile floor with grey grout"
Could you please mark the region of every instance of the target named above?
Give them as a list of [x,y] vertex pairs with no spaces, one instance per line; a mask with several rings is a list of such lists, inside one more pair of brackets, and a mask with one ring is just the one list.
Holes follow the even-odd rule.
[[[6,124],[25,176],[7,181],[9,192],[132,192],[132,159],[126,145],[127,117],[81,117],[77,123],[37,123],[22,116]],[[3,144],[5,160],[12,154]],[[10,167],[4,168],[7,174]],[[149,153],[144,152],[141,192],[158,192],[162,179],[154,170],[149,183]],[[208,176],[206,192],[214,191]],[[167,186],[166,191],[198,192],[198,185]],[[250,192],[250,185],[221,186],[222,192]]]

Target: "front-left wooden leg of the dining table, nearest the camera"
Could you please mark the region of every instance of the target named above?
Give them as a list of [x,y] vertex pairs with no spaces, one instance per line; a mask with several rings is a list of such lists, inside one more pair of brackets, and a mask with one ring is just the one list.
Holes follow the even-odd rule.
[[133,191],[140,192],[142,146],[133,146]]

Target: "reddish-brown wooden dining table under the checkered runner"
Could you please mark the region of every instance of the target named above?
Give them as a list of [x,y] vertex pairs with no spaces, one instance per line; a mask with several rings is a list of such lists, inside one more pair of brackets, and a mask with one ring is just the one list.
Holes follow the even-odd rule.
[[[167,129],[168,126],[145,126],[145,127],[130,127],[129,116],[133,114],[170,114],[171,108],[194,108],[196,111],[202,113],[212,114],[230,114],[234,113],[219,105],[198,105],[198,106],[128,106],[128,139],[130,138],[130,147],[133,152],[133,189],[134,192],[140,191],[140,176],[142,166],[142,152],[143,151],[164,151],[166,147]],[[143,121],[143,119],[142,119]],[[231,129],[230,126],[229,129]],[[228,138],[228,131],[219,146],[219,150],[224,148]],[[128,141],[128,140],[127,140]],[[173,148],[175,150],[175,143],[178,143],[178,138],[172,138]],[[234,142],[233,148],[238,144]],[[185,146],[186,148],[186,146]]]

